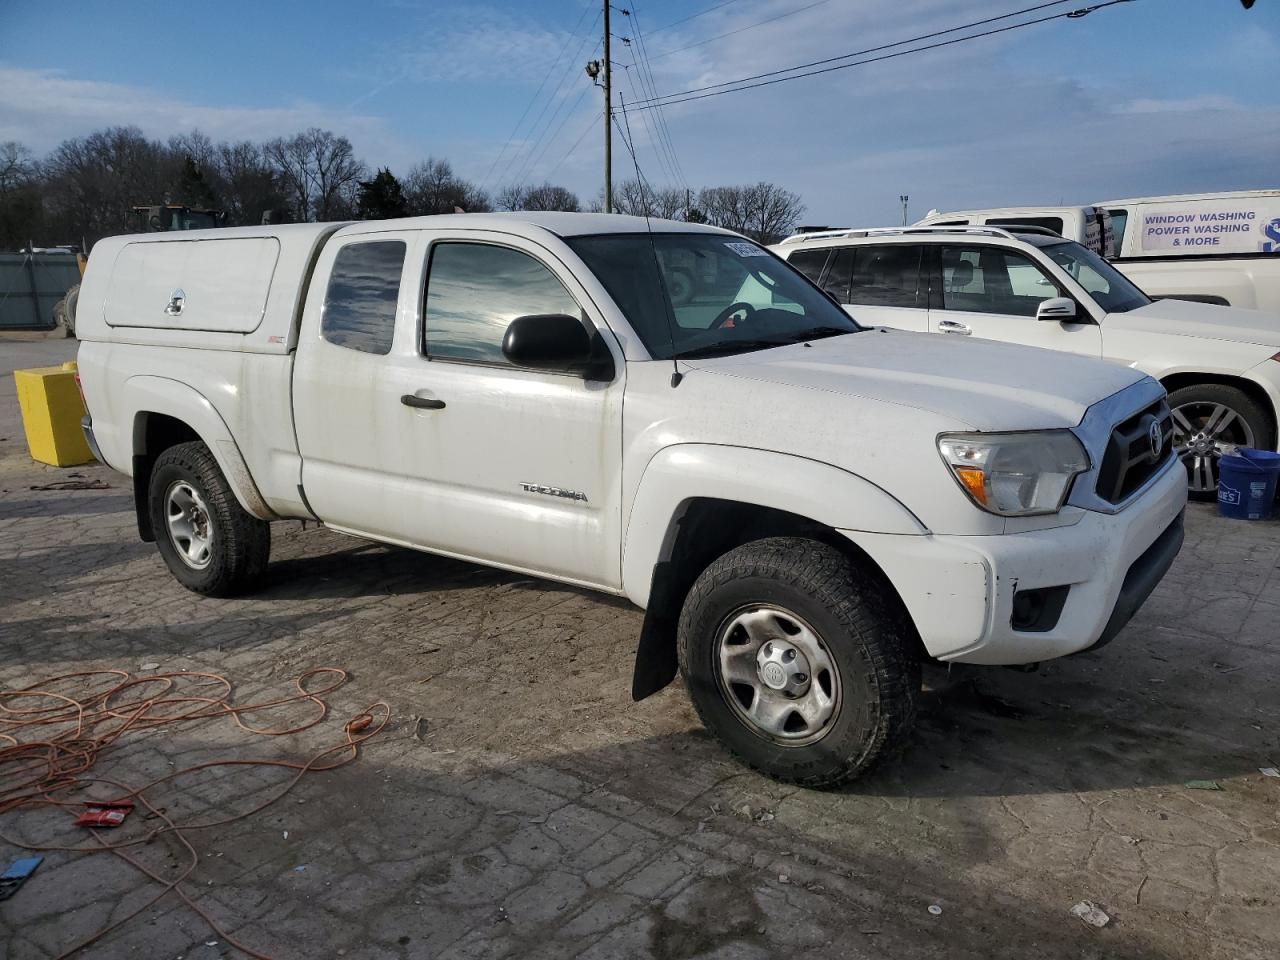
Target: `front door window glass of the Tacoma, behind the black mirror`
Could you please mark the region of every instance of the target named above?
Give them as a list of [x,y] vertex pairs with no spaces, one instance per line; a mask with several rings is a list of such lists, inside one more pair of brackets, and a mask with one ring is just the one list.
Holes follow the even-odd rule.
[[543,264],[489,243],[436,243],[426,278],[425,352],[433,360],[508,364],[502,338],[517,316],[582,308]]

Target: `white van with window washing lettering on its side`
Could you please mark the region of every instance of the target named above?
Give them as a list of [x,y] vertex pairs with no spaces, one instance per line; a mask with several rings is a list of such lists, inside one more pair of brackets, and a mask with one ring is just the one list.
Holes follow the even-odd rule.
[[1280,189],[1101,204],[1115,265],[1153,297],[1280,314]]

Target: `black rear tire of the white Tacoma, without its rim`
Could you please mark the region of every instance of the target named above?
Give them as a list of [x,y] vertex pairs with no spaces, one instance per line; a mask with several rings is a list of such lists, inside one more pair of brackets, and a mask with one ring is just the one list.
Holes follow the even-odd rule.
[[[211,556],[201,570],[182,559],[169,534],[166,493],[178,481],[191,484],[200,493],[212,524]],[[179,443],[156,457],[147,486],[147,508],[160,556],[169,572],[188,590],[205,596],[233,596],[252,588],[266,570],[271,526],[241,507],[204,443]]]

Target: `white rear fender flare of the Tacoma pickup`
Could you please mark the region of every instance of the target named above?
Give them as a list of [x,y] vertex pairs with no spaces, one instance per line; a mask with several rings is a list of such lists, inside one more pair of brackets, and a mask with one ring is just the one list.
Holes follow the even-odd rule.
[[[223,471],[227,483],[241,507],[259,520],[278,520],[275,512],[266,506],[262,494],[250,474],[248,465],[227,428],[218,408],[189,384],[166,376],[131,376],[124,381],[125,422],[132,425],[132,453],[134,458],[148,454],[145,451],[146,435],[142,431],[141,413],[159,413],[180,420],[209,447]],[[137,462],[134,460],[134,462]],[[134,488],[138,485],[134,477]]]

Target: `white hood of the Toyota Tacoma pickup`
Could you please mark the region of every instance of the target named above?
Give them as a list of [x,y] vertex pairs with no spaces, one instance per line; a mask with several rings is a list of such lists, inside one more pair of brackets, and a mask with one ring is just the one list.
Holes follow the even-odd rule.
[[681,362],[726,376],[899,403],[970,430],[1075,426],[1092,404],[1146,378],[1075,353],[884,328],[808,347]]

